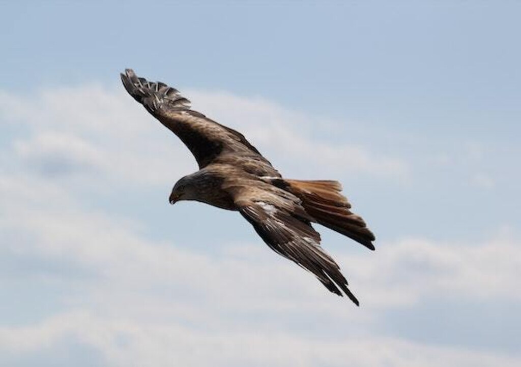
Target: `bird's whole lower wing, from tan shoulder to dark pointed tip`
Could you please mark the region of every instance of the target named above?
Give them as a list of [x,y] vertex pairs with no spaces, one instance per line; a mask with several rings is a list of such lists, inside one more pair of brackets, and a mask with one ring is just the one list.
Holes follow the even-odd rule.
[[330,292],[342,296],[341,289],[358,306],[339,266],[320,247],[320,234],[299,198],[274,186],[235,186],[231,192],[242,216],[272,250],[315,274]]

